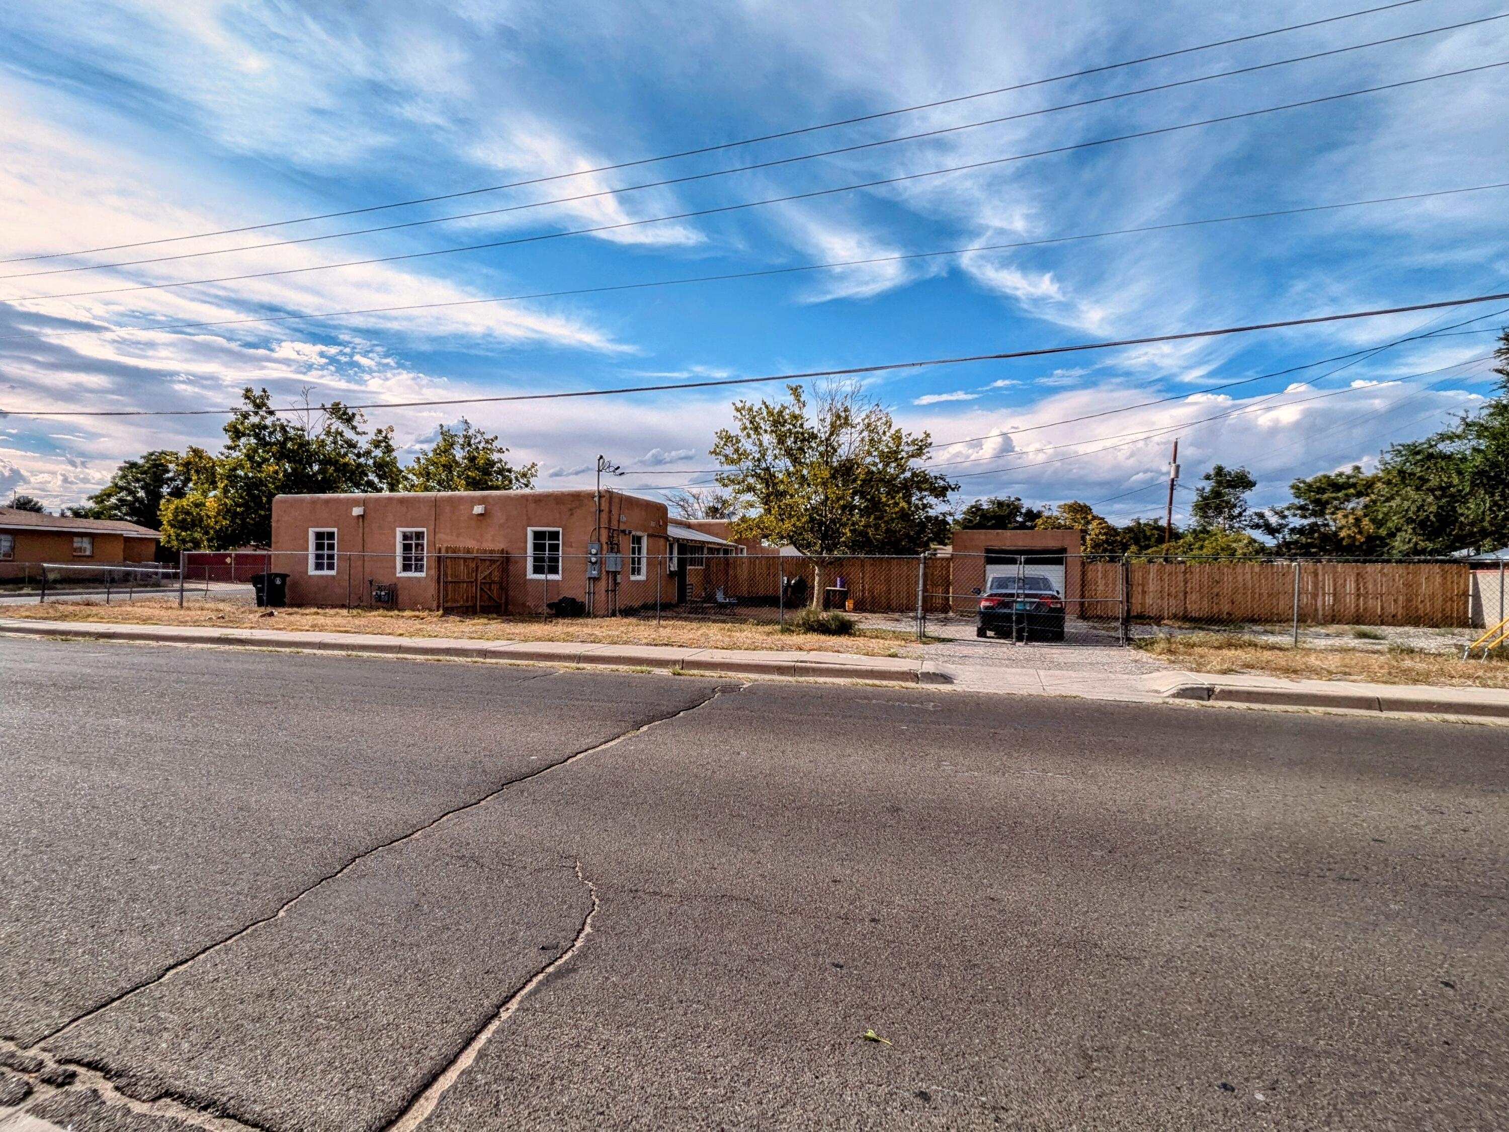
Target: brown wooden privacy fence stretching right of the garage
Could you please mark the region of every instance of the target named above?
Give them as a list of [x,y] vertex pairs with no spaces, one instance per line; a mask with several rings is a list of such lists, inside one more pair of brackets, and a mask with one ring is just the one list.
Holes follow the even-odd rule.
[[[1120,561],[1083,564],[1085,596],[1114,598]],[[1292,622],[1304,625],[1464,626],[1471,617],[1465,563],[1132,561],[1133,620]]]

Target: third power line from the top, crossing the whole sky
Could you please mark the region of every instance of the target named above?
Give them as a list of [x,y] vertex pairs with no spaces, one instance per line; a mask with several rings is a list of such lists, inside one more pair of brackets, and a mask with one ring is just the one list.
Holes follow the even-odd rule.
[[240,281],[244,281],[244,279],[270,279],[270,278],[285,276],[285,275],[305,275],[308,272],[329,272],[329,270],[335,270],[338,267],[365,267],[365,266],[380,264],[380,263],[398,263],[398,261],[406,261],[406,260],[424,260],[424,258],[430,258],[430,257],[436,257],[436,255],[454,255],[457,252],[477,252],[477,251],[486,251],[486,249],[492,249],[492,248],[512,248],[512,246],[525,245],[525,243],[539,243],[539,241],[543,241],[543,240],[560,240],[560,238],[564,238],[564,237],[569,237],[569,235],[587,235],[587,234],[593,234],[593,232],[607,232],[607,231],[617,231],[617,229],[623,229],[623,228],[635,228],[635,226],[646,225],[646,223],[662,223],[665,220],[685,220],[685,219],[696,217],[696,216],[714,216],[714,214],[718,214],[718,213],[732,213],[732,211],[741,211],[741,210],[745,210],[745,208],[759,208],[759,207],[764,207],[764,205],[768,205],[768,204],[783,204],[783,202],[789,202],[789,201],[806,201],[806,199],[812,199],[812,198],[816,198],[816,196],[831,196],[834,193],[848,193],[848,192],[856,192],[856,190],[860,190],[860,189],[874,189],[874,187],[886,186],[886,184],[901,184],[901,183],[905,183],[905,181],[917,181],[917,180],[924,180],[924,178],[928,178],[928,177],[940,177],[943,174],[957,174],[957,172],[967,172],[967,171],[972,171],[972,169],[984,169],[984,168],[990,168],[990,166],[1005,165],[1008,161],[1023,161],[1023,160],[1028,160],[1028,158],[1032,158],[1032,157],[1049,157],[1049,155],[1053,155],[1053,154],[1064,154],[1064,152],[1071,152],[1071,151],[1076,151],[1076,149],[1089,149],[1089,148],[1094,148],[1094,146],[1111,145],[1111,143],[1115,143],[1115,142],[1130,142],[1130,140],[1138,140],[1138,139],[1142,139],[1142,137],[1156,137],[1156,136],[1162,136],[1162,134],[1179,133],[1182,130],[1194,130],[1194,128],[1206,127],[1206,125],[1218,125],[1221,122],[1234,122],[1234,121],[1240,121],[1240,119],[1246,119],[1246,118],[1257,118],[1260,115],[1277,113],[1280,110],[1295,110],[1295,109],[1301,109],[1301,107],[1307,107],[1307,106],[1319,106],[1322,103],[1334,103],[1334,101],[1338,101],[1342,98],[1357,98],[1360,95],[1379,94],[1382,91],[1397,91],[1397,89],[1402,89],[1402,88],[1406,88],[1406,86],[1417,86],[1420,83],[1431,83],[1431,82],[1435,82],[1438,78],[1456,78],[1456,77],[1461,77],[1461,75],[1465,75],[1465,74],[1476,74],[1479,71],[1492,71],[1492,69],[1497,69],[1500,66],[1509,66],[1509,59],[1500,60],[1497,63],[1482,63],[1479,66],[1465,66],[1465,68],[1459,68],[1456,71],[1441,71],[1438,74],[1423,75],[1420,78],[1405,78],[1405,80],[1400,80],[1400,82],[1396,82],[1396,83],[1384,83],[1381,86],[1369,86],[1369,88],[1363,88],[1360,91],[1345,91],[1342,94],[1334,94],[1334,95],[1320,95],[1317,98],[1304,98],[1304,100],[1296,101],[1296,103],[1284,103],[1281,106],[1268,106],[1268,107],[1262,107],[1259,110],[1243,110],[1240,113],[1233,113],[1233,115],[1219,115],[1216,118],[1203,118],[1203,119],[1195,121],[1195,122],[1182,122],[1179,125],[1165,125],[1165,127],[1159,127],[1156,130],[1138,130],[1138,131],[1127,133],[1127,134],[1117,134],[1114,137],[1099,137],[1099,139],[1091,140],[1091,142],[1074,142],[1071,145],[1059,145],[1059,146],[1052,146],[1049,149],[1037,149],[1037,151],[1026,152],[1026,154],[1010,154],[1007,157],[993,157],[993,158],[988,158],[988,160],[984,160],[984,161],[970,161],[967,165],[949,166],[946,169],[930,169],[930,171],[925,171],[925,172],[920,172],[920,174],[902,174],[902,175],[898,175],[898,177],[883,177],[883,178],[878,178],[878,180],[874,180],[874,181],[862,181],[859,184],[837,186],[834,189],[813,189],[813,190],[806,192],[806,193],[791,193],[788,196],[773,196],[773,198],[767,198],[764,201],[742,201],[739,204],[718,205],[715,208],[696,208],[696,210],[685,211],[685,213],[673,213],[673,214],[668,214],[668,216],[655,216],[655,217],[647,217],[647,219],[643,219],[643,220],[620,220],[617,223],[593,225],[590,228],[572,228],[572,229],[561,231],[561,232],[540,232],[537,235],[521,235],[521,237],[513,237],[513,238],[509,238],[509,240],[489,240],[486,243],[462,245],[462,246],[457,246],[457,248],[435,248],[435,249],[423,251],[423,252],[401,252],[401,254],[395,254],[395,255],[370,257],[367,260],[346,260],[346,261],[341,261],[341,263],[311,264],[311,266],[306,266],[306,267],[282,267],[282,269],[270,270],[270,272],[244,272],[241,275],[222,275],[222,276],[214,276],[214,278],[210,278],[210,279],[184,279],[184,281],[178,281],[178,282],[139,284],[139,285],[134,285],[134,287],[109,287],[109,288],[98,288],[98,290],[92,290],[92,291],[63,291],[63,293],[59,293],[59,294],[15,296],[12,299],[5,299],[3,302],[39,302],[42,299],[83,299],[83,297],[97,296],[97,294],[128,294],[128,293],[137,293],[137,291],[158,291],[158,290],[169,290],[169,288],[178,288],[178,287],[204,287],[204,285],[210,285],[210,284],[240,282]]

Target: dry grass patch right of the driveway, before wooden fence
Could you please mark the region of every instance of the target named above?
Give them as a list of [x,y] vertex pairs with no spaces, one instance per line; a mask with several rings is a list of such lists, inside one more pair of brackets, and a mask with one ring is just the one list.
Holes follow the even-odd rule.
[[1269,641],[1192,632],[1153,637],[1138,648],[1189,672],[1257,673],[1292,679],[1366,681],[1370,684],[1434,684],[1438,687],[1509,688],[1509,663],[1495,655],[1486,664],[1459,660],[1459,654],[1388,649],[1299,649]]

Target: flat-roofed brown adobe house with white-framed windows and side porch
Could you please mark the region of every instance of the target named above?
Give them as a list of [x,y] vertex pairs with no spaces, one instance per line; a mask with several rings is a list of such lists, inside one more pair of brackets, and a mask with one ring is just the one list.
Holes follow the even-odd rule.
[[545,613],[572,599],[611,614],[702,599],[706,555],[738,552],[619,491],[273,500],[272,569],[290,575],[291,605]]

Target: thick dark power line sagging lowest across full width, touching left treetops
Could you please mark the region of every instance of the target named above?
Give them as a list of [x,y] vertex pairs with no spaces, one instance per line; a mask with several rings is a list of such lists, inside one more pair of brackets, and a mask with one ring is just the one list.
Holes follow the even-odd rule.
[[[1043,346],[1032,350],[1007,350],[1000,353],[976,353],[958,358],[930,358],[924,361],[883,362],[878,365],[851,365],[841,370],[809,370],[806,373],[780,373],[764,377],[720,377],[705,382],[676,382],[672,385],[635,385],[614,389],[570,389],[564,392],[519,392],[495,397],[447,397],[421,401],[370,401],[364,405],[347,405],[349,409],[415,409],[451,405],[495,405],[502,401],[552,401],[575,397],[616,397],[631,392],[662,392],[668,389],[709,389],[730,385],[762,385],[767,382],[804,382],[818,377],[854,377],[865,373],[886,373],[895,370],[924,370],[934,365],[961,365],[966,362],[1010,361],[1017,358],[1044,358],[1058,353],[1082,353],[1086,350],[1109,350],[1123,346],[1153,346],[1157,343],[1189,341],[1194,338],[1221,338],[1233,334],[1251,334],[1255,331],[1277,331],[1290,326],[1316,326],[1320,323],[1351,321],[1355,318],[1378,318],[1388,314],[1409,314],[1412,311],[1438,311],[1447,306],[1467,306],[1480,302],[1497,302],[1509,299],[1509,291],[1495,294],[1477,294],[1462,299],[1444,299],[1429,303],[1409,303],[1406,306],[1381,306],[1369,311],[1346,311],[1342,314],[1319,314],[1308,318],[1284,318],[1268,323],[1246,323],[1243,326],[1222,326],[1209,331],[1180,331],[1176,334],[1147,335],[1141,338],[1120,338],[1106,343],[1077,343],[1074,346]],[[323,411],[326,405],[296,406],[288,409],[272,409],[282,412]],[[238,412],[237,409],[0,409],[0,415],[8,417],[225,417]],[[957,441],[955,441],[957,442]]]

